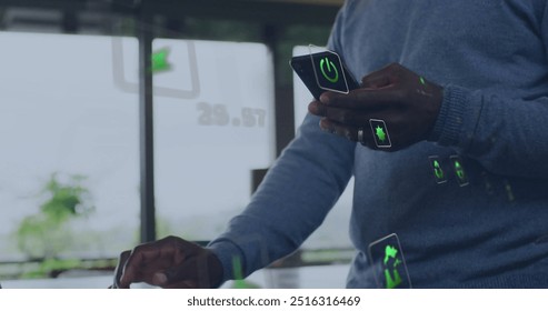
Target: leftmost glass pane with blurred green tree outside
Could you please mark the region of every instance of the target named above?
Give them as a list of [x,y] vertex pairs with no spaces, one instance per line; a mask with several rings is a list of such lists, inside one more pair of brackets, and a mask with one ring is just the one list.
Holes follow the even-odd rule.
[[[137,41],[117,40],[136,59]],[[138,241],[138,98],[116,83],[113,42],[0,32],[0,262],[117,258]]]

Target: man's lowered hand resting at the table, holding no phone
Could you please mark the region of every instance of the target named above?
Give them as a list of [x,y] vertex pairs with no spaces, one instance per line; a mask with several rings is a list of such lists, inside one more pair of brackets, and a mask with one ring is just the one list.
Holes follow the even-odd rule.
[[210,250],[168,237],[122,252],[112,288],[129,289],[138,282],[166,289],[213,288],[221,279],[221,263]]

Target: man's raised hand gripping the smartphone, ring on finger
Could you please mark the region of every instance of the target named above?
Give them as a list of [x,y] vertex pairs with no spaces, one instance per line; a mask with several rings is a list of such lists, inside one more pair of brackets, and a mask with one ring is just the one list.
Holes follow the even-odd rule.
[[[361,88],[348,94],[325,92],[319,101],[309,104],[308,110],[322,117],[322,130],[359,141],[371,149],[397,151],[428,138],[442,97],[440,86],[392,63],[366,76]],[[390,148],[377,146],[371,119],[385,121]]]

